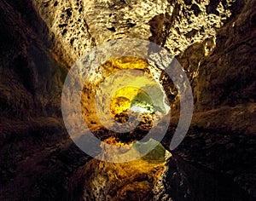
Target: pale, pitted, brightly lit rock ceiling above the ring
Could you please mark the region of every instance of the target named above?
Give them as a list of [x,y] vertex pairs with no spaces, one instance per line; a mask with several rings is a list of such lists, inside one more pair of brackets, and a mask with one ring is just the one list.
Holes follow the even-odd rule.
[[193,43],[215,40],[215,29],[229,19],[233,6],[231,0],[211,9],[208,1],[184,4],[182,0],[33,3],[49,27],[55,53],[69,65],[92,46],[123,37],[149,39],[179,55]]

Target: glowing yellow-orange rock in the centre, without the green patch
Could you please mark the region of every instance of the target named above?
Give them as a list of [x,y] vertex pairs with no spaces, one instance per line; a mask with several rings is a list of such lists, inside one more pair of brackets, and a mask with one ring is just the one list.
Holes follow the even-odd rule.
[[[102,115],[107,113],[107,110],[111,116],[124,112],[131,108],[132,100],[138,94],[144,94],[144,97],[148,96],[143,89],[148,89],[148,86],[151,86],[152,89],[159,86],[148,69],[149,65],[146,60],[127,56],[106,61],[90,75],[90,78],[84,83],[81,103],[84,120],[91,130],[102,128],[102,123],[97,116],[101,114],[97,113],[95,109],[96,94],[97,97],[101,97],[102,106],[97,106],[102,108]],[[137,71],[119,74],[123,70]],[[113,75],[116,76],[112,78]],[[124,87],[124,83],[127,83],[127,86]]]

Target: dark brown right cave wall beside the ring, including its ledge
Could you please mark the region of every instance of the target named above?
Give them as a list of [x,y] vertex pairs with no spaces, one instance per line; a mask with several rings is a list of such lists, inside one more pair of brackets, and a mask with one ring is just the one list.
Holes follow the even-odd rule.
[[195,101],[194,121],[199,126],[254,133],[253,4],[255,1],[233,4],[233,14],[216,30],[215,42],[207,38],[202,43],[193,43],[177,56],[190,79]]

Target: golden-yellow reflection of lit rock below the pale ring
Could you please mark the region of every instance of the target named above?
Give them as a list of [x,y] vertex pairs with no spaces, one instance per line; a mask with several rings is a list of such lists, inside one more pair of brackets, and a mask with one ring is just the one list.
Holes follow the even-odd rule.
[[[115,141],[114,138],[108,138],[105,142],[117,146],[126,146],[125,144]],[[132,155],[136,150],[132,149],[130,152],[124,153],[127,157]],[[124,154],[118,154],[116,157],[123,157]],[[115,157],[112,149],[106,150],[102,154],[102,158]],[[170,152],[166,152],[165,148],[159,144],[148,156],[138,158],[136,160],[124,163],[108,163],[105,161],[92,159],[85,165],[86,172],[90,175],[86,177],[88,192],[102,187],[102,183],[111,186],[113,195],[109,196],[110,200],[131,200],[124,197],[126,193],[138,193],[141,197],[137,200],[145,200],[150,195],[155,184],[160,179],[160,176],[166,170],[166,156],[172,156]],[[126,198],[126,199],[124,199]]]

